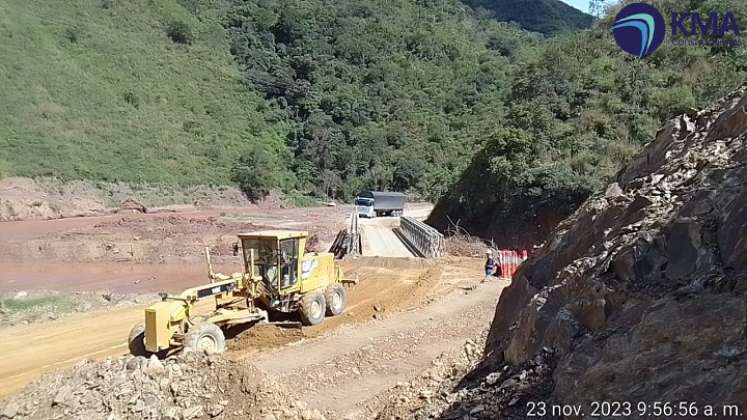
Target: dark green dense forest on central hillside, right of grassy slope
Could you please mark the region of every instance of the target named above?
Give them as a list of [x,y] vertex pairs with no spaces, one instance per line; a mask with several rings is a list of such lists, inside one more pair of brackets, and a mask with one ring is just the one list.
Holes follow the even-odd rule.
[[[232,4],[232,52],[293,125],[299,187],[330,197],[445,192],[500,127],[512,57],[531,40],[452,0]],[[248,188],[262,159],[237,174]]]

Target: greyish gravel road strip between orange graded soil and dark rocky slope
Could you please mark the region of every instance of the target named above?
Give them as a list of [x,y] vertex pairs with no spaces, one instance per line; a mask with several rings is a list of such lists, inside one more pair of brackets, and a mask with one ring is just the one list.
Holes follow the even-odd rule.
[[[449,292],[421,309],[346,326],[303,345],[261,354],[253,362],[298,390],[301,401],[326,410],[328,418],[365,419],[366,402],[489,327],[507,283],[478,285],[477,270],[458,267],[447,267],[443,276]],[[298,386],[312,382],[317,386]]]

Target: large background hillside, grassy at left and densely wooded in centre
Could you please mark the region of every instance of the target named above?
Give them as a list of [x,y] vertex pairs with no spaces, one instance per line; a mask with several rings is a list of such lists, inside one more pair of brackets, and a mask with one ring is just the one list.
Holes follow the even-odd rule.
[[533,39],[458,0],[0,0],[0,176],[445,192]]

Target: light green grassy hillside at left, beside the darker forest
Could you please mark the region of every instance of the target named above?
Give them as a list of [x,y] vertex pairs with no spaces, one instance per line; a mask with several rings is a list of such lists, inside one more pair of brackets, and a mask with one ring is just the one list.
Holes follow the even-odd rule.
[[0,177],[227,184],[255,145],[283,151],[210,13],[0,0]]

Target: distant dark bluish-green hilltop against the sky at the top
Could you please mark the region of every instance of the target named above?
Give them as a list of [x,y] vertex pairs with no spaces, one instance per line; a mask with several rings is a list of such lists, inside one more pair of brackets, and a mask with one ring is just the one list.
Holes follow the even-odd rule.
[[588,29],[594,18],[560,0],[464,0],[501,22],[516,22],[522,28],[555,35]]

